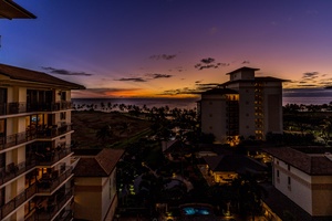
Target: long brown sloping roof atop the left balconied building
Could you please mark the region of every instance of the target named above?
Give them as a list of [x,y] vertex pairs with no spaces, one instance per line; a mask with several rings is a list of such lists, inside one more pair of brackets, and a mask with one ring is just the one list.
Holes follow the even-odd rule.
[[[0,0],[1,1],[1,0]],[[48,84],[50,86],[54,87],[68,87],[71,90],[84,90],[85,87],[66,82],[64,80],[58,78],[55,76],[49,75],[43,72],[37,72],[32,70],[27,70],[22,67],[17,67],[17,66],[11,66],[7,64],[0,64],[0,74],[8,76],[10,80],[9,82],[33,82],[33,83],[42,83],[42,84]],[[4,82],[4,80],[2,81]]]

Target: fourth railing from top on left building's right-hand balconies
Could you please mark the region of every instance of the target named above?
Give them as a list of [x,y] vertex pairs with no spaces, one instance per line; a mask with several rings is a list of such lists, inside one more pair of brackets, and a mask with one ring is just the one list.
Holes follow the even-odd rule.
[[62,173],[58,173],[58,176],[54,176],[55,173],[52,173],[52,177],[49,176],[48,178],[42,178],[38,180],[37,183],[37,192],[38,193],[51,193],[54,191],[59,186],[63,183],[64,180],[66,180],[69,177],[71,177],[72,173],[72,167],[66,167],[65,171]]

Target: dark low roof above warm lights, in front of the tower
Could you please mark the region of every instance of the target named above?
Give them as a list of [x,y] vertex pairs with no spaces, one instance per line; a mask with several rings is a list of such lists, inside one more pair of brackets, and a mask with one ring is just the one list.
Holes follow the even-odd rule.
[[266,171],[267,166],[242,155],[229,154],[204,157],[212,171],[241,172],[241,171]]

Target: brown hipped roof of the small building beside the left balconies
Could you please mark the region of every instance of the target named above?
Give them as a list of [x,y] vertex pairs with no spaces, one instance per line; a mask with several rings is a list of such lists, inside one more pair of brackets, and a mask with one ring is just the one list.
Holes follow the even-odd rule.
[[104,148],[95,157],[81,158],[74,169],[74,176],[108,177],[123,154],[123,149]]

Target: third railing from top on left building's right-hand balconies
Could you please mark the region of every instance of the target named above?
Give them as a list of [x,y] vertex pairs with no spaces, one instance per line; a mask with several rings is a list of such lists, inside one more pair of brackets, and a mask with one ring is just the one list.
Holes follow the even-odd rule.
[[71,154],[70,148],[55,150],[54,152],[37,152],[37,166],[51,166]]

